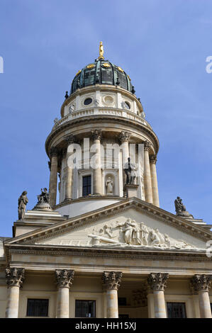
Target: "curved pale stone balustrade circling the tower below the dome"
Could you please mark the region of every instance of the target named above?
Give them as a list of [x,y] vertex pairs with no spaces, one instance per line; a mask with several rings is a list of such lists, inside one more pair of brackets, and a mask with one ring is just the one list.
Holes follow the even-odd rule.
[[128,118],[130,120],[138,121],[138,123],[142,123],[143,125],[151,128],[150,124],[147,123],[145,119],[140,117],[140,115],[136,115],[135,113],[128,110],[122,110],[120,108],[87,108],[79,111],[74,111],[72,113],[65,115],[65,117],[61,118],[55,123],[55,125],[52,128],[52,131],[56,130],[57,128],[60,128],[61,125],[67,123],[70,120],[83,117],[90,117],[91,115],[113,115],[113,116],[115,115],[118,117],[123,117],[123,118]]

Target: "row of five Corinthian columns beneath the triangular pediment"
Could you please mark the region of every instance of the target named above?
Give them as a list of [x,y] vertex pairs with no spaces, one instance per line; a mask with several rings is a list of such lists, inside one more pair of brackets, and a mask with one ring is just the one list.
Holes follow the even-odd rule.
[[[6,283],[9,288],[6,318],[18,317],[19,291],[23,286],[24,269],[6,269]],[[121,285],[121,271],[104,271],[102,275],[103,292],[106,293],[106,314],[108,318],[118,318],[118,288]],[[167,286],[168,273],[150,273],[147,276],[147,296],[153,294],[155,318],[167,317],[164,288]],[[69,317],[69,292],[74,281],[74,270],[55,270],[57,283],[57,318]],[[211,305],[208,295],[211,276],[195,274],[191,280],[191,293],[199,295],[201,318],[211,318]],[[148,299],[148,297],[147,297]]]

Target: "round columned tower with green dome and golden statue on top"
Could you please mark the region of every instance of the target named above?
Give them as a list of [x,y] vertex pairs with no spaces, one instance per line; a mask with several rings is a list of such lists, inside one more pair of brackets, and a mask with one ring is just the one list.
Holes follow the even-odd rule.
[[63,215],[81,215],[128,196],[159,207],[157,136],[130,77],[104,59],[102,43],[98,59],[75,75],[45,149],[50,205]]

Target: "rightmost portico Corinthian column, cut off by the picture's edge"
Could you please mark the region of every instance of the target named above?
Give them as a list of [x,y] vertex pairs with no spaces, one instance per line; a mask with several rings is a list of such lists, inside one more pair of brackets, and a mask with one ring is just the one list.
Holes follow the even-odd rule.
[[211,318],[211,304],[208,291],[211,285],[211,275],[194,275],[191,278],[191,289],[199,294],[199,310],[201,318]]

